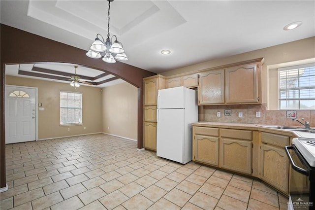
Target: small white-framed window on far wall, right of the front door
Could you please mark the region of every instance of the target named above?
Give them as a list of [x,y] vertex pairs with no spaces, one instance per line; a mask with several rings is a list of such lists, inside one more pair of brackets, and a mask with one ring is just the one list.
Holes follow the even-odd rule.
[[60,124],[82,123],[82,93],[60,92]]

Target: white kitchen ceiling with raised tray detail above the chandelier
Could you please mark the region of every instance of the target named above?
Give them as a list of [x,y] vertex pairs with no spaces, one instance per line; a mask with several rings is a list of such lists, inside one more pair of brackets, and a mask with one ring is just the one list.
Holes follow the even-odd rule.
[[[107,0],[0,0],[0,22],[87,52]],[[315,36],[314,0],[114,0],[110,34],[128,65],[161,73]],[[303,25],[284,31],[285,25]],[[169,49],[163,56],[159,52]]]

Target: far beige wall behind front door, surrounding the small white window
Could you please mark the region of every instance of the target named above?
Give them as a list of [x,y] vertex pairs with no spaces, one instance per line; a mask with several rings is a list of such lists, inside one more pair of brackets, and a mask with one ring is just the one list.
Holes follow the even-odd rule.
[[[75,90],[69,84],[61,82],[9,75],[5,79],[7,85],[38,88],[38,103],[42,103],[45,108],[44,111],[37,112],[39,140],[102,132],[101,88],[80,86]],[[82,125],[60,126],[60,91],[83,93]],[[67,131],[68,128],[70,131]]]

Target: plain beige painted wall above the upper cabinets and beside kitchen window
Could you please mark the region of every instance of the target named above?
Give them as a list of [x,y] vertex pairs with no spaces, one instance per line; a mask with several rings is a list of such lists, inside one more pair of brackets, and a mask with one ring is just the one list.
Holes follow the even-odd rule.
[[262,69],[262,103],[267,103],[268,93],[268,66],[315,58],[315,36],[251,52],[246,52],[226,58],[215,59],[192,66],[162,72],[164,76],[171,76],[197,70],[206,70],[226,64],[264,58]]

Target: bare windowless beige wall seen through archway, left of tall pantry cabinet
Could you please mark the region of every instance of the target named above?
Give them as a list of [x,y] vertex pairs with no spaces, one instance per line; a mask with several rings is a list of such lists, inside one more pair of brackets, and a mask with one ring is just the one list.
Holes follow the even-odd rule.
[[137,140],[138,89],[125,82],[103,88],[103,132]]

